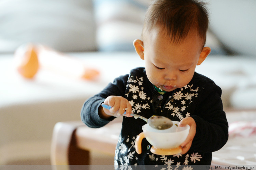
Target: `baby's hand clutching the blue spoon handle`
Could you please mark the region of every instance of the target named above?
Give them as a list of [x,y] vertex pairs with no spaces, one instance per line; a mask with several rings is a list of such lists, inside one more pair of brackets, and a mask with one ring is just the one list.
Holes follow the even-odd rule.
[[105,105],[109,105],[112,108],[111,109],[105,109],[103,108],[103,111],[105,114],[114,116],[114,117],[120,117],[124,114],[126,111],[126,117],[132,117],[131,114],[131,104],[129,101],[122,97],[122,96],[109,96],[105,99],[104,103]]

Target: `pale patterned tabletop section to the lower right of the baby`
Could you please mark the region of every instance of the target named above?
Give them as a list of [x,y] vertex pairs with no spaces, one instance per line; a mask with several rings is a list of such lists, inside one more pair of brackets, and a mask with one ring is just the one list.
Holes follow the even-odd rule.
[[229,139],[219,151],[213,152],[214,165],[256,166],[256,111],[229,112]]

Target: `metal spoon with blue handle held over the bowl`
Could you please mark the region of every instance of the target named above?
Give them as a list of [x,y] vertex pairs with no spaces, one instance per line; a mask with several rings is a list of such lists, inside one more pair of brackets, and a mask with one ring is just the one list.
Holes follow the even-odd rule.
[[[111,108],[111,106],[104,105],[103,103],[101,104],[101,106],[108,110]],[[124,112],[124,114],[125,113],[126,112]],[[172,125],[173,125],[172,121],[169,118],[164,117],[164,116],[153,115],[152,117],[150,117],[148,119],[141,115],[134,114],[134,113],[131,113],[131,116],[133,116],[135,119],[140,118],[140,119],[144,120],[151,127],[155,128],[155,129],[160,129],[160,130],[168,129],[168,128],[172,127]]]

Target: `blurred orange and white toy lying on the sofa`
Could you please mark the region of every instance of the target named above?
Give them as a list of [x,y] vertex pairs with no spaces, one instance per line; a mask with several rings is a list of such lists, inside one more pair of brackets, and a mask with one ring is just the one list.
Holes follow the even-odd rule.
[[97,69],[87,68],[78,59],[42,45],[22,45],[14,57],[18,72],[25,78],[33,78],[39,66],[72,78],[93,80],[99,76]]

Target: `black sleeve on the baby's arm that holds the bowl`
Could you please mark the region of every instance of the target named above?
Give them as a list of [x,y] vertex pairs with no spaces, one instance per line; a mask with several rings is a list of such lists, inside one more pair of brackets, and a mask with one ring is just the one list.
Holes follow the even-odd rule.
[[228,140],[228,122],[223,111],[222,90],[215,83],[207,84],[200,104],[191,117],[197,128],[191,149],[211,153],[221,149]]

